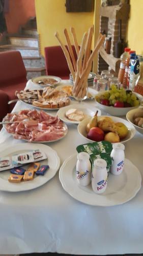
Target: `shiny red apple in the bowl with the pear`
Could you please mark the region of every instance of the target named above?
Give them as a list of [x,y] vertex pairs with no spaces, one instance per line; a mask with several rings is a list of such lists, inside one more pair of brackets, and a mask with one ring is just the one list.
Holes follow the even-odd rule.
[[104,132],[99,127],[92,127],[87,138],[94,141],[104,140]]

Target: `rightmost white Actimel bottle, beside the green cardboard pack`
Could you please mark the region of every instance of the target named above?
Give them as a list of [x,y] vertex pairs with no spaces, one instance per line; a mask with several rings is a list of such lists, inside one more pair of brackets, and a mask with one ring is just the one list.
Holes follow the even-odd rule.
[[112,165],[110,167],[110,172],[114,175],[120,175],[124,168],[125,160],[125,146],[122,143],[115,143],[112,145],[113,149],[111,151]]

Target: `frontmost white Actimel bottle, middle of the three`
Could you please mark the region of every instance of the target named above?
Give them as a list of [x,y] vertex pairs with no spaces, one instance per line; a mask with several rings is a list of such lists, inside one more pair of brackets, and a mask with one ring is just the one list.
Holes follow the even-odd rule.
[[94,160],[92,170],[92,189],[95,193],[101,194],[107,187],[107,163],[104,159]]

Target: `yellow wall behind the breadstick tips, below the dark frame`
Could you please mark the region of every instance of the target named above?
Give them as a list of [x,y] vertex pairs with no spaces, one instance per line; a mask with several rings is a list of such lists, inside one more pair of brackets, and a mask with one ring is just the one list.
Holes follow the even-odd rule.
[[[67,28],[70,34],[70,27],[74,27],[80,45],[83,33],[93,25],[94,12],[67,13],[65,2],[65,0],[35,0],[42,55],[44,55],[44,47],[59,45],[54,36],[55,31],[59,32],[66,44],[64,28]],[[72,39],[71,36],[70,38]]]

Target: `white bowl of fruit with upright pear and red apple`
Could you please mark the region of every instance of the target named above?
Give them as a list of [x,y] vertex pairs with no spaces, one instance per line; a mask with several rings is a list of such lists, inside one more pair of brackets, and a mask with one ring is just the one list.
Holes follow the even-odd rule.
[[135,135],[133,124],[120,117],[94,116],[86,118],[77,126],[78,133],[88,141],[127,142]]

